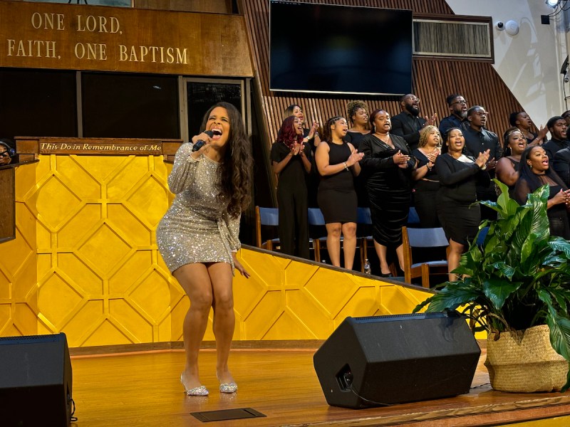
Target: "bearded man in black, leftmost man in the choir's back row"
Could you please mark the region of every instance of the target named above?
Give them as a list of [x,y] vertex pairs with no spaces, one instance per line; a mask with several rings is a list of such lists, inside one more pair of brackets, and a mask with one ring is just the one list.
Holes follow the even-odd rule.
[[400,108],[402,112],[392,117],[392,130],[394,135],[400,135],[408,143],[410,149],[418,148],[420,142],[420,130],[425,125],[433,125],[437,114],[432,115],[431,119],[427,116],[420,117],[420,99],[413,93],[408,93],[400,98]]

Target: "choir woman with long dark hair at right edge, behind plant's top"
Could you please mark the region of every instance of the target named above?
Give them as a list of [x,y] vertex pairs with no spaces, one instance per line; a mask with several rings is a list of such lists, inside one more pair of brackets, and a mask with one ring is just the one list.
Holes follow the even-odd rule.
[[522,153],[520,177],[517,185],[514,186],[514,199],[519,204],[525,204],[528,195],[545,184],[548,184],[550,189],[546,205],[550,234],[570,240],[568,221],[570,190],[549,167],[549,158],[544,148],[527,147]]

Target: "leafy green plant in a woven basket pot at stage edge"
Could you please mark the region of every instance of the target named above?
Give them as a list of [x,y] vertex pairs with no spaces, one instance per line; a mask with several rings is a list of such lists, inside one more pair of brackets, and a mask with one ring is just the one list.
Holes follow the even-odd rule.
[[570,385],[570,242],[550,236],[549,188],[519,206],[507,186],[482,246],[472,243],[455,270],[414,312],[458,310],[474,332],[486,330],[489,378],[500,391],[566,391]]

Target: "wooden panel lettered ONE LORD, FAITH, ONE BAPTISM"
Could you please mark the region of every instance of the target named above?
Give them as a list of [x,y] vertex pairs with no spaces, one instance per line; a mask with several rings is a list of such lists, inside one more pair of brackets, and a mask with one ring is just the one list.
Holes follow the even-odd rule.
[[19,1],[0,1],[0,67],[253,76],[243,16]]

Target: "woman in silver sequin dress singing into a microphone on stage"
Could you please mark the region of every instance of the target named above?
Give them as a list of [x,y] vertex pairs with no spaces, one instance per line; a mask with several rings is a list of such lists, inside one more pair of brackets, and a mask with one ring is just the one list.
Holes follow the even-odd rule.
[[[233,105],[219,102],[204,115],[201,130],[213,136],[202,132],[178,149],[168,176],[175,200],[157,227],[162,258],[190,298],[183,327],[186,366],[180,376],[188,396],[208,394],[199,381],[198,352],[211,307],[219,390],[237,391],[227,366],[235,325],[234,268],[249,277],[236,258],[253,169],[242,116]],[[206,144],[192,152],[200,140]]]

